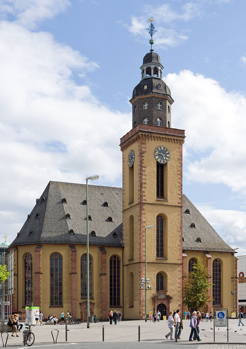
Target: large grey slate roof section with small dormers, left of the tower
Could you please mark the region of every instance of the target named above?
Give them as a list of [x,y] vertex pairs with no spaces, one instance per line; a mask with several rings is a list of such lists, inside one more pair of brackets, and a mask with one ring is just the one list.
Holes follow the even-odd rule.
[[[88,185],[88,197],[92,218],[89,221],[89,244],[123,247],[122,188]],[[62,202],[63,198],[67,203]],[[50,181],[10,246],[45,243],[86,245],[84,200],[85,184]],[[103,205],[104,202],[108,203],[108,207]],[[67,213],[70,219],[66,218]],[[39,217],[36,218],[37,214]],[[112,217],[113,222],[109,222],[108,217]],[[74,234],[70,233],[71,229]],[[91,231],[95,231],[96,236],[93,237]]]

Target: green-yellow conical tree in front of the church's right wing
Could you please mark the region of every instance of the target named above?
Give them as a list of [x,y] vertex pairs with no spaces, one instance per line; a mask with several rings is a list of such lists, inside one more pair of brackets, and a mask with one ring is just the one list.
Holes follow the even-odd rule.
[[193,265],[193,271],[188,274],[184,283],[184,303],[189,309],[201,309],[213,300],[209,294],[213,284],[208,282],[208,268],[201,262],[198,257]]

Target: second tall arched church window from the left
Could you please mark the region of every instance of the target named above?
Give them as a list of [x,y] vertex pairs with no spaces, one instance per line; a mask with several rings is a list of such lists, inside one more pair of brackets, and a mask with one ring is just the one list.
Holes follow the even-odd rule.
[[50,284],[50,305],[62,305],[62,256],[59,253],[50,257]]

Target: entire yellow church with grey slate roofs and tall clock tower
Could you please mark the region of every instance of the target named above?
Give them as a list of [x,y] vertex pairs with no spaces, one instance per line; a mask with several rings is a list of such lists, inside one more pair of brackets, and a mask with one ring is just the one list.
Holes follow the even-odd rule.
[[[90,312],[100,319],[109,310],[145,318],[146,253],[147,314],[187,310],[183,283],[199,257],[213,283],[213,301],[201,310],[223,307],[230,315],[235,251],[183,194],[185,132],[171,127],[174,99],[152,45],[140,69],[130,99],[132,129],[120,141],[123,188],[88,190]],[[69,310],[87,319],[86,221],[86,185],[50,181],[9,246],[14,308],[33,304],[45,318]]]

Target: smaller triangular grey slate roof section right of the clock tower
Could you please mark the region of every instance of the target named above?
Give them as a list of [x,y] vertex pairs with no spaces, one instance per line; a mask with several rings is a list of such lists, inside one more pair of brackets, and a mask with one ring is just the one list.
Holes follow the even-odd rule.
[[[189,213],[186,213],[186,210]],[[195,228],[192,228],[194,224]],[[201,242],[198,242],[198,238]],[[193,203],[183,194],[183,250],[232,252]]]

